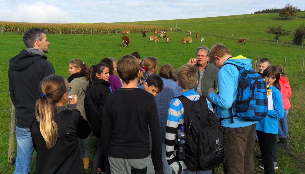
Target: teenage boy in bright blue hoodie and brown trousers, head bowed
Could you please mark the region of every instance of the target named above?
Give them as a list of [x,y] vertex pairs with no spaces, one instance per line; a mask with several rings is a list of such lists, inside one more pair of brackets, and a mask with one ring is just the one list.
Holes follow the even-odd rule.
[[[220,68],[218,73],[218,92],[216,89],[208,90],[209,98],[216,105],[216,112],[220,118],[231,117],[229,110],[232,103],[237,100],[239,71],[233,63],[246,70],[252,69],[251,59],[242,55],[232,57],[231,52],[223,44],[215,44],[210,51],[210,60]],[[232,107],[233,115],[236,114]],[[244,121],[239,117],[221,121],[221,126],[226,130],[227,138],[224,139],[223,169],[225,174],[254,174],[253,149],[256,121]]]

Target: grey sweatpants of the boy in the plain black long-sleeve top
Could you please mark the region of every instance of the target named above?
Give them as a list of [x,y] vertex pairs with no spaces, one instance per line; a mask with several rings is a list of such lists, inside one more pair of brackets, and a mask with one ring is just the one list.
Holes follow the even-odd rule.
[[120,174],[155,174],[150,155],[143,159],[109,158],[111,173]]

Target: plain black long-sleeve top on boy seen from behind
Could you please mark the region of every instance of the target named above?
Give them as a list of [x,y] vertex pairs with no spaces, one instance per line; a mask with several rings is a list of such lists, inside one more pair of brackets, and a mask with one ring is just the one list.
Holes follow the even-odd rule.
[[105,154],[113,158],[142,159],[149,156],[152,136],[152,162],[162,170],[162,140],[155,98],[140,88],[120,88],[108,95],[102,118]]

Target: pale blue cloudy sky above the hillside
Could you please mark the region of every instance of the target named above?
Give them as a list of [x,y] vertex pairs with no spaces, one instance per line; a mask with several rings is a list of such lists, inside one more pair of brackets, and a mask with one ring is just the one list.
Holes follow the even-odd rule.
[[250,14],[283,8],[305,10],[298,0],[0,0],[0,21],[30,23],[112,23]]

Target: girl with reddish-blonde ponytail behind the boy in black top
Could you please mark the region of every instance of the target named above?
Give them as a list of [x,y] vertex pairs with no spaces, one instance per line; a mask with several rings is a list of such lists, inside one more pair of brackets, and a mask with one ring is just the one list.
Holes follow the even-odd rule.
[[144,83],[148,76],[157,72],[158,69],[158,59],[155,57],[146,57],[143,60],[143,66],[139,74],[138,88],[143,88]]

